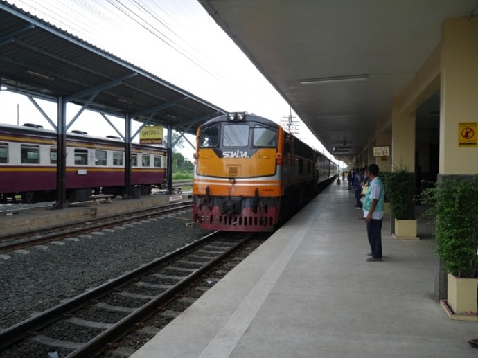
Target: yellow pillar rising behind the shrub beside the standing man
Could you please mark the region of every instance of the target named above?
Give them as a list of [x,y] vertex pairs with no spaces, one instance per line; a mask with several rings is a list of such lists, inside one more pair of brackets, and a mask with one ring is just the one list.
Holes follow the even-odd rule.
[[415,112],[400,113],[400,98],[393,98],[391,111],[391,168],[415,171]]

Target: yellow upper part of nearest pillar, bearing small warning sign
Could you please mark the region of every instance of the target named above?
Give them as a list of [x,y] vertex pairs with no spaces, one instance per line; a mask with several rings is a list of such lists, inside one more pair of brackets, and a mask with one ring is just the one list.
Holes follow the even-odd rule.
[[[478,172],[478,18],[445,19],[441,37],[440,174]],[[475,144],[463,145],[462,123]],[[470,141],[468,141],[470,143]]]

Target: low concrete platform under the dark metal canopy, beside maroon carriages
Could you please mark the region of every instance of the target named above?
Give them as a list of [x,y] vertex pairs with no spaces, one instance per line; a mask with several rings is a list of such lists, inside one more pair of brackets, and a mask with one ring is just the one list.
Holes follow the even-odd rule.
[[0,237],[26,231],[48,229],[58,223],[69,224],[84,222],[85,220],[98,219],[112,214],[128,213],[136,210],[154,208],[180,202],[191,198],[191,193],[164,194],[153,193],[141,195],[139,199],[121,199],[116,197],[107,203],[100,200],[98,204],[78,202],[65,204],[66,207],[53,210],[53,205],[42,208],[17,209],[15,204],[0,212]]

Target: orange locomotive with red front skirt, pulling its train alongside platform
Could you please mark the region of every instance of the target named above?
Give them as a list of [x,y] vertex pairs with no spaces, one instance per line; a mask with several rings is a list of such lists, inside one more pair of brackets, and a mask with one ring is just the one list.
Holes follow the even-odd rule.
[[337,164],[272,120],[234,112],[197,129],[193,222],[274,231],[338,175]]

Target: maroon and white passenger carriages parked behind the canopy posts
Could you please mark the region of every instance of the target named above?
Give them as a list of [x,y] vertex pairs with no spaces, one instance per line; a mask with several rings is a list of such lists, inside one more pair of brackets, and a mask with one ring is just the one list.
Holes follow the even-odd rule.
[[[119,137],[67,133],[67,200],[81,202],[92,193],[125,195],[125,144]],[[139,193],[166,182],[167,150],[132,143],[131,185]],[[57,134],[41,125],[0,124],[0,201],[55,200]]]

